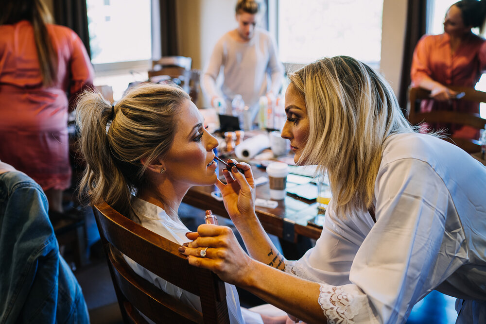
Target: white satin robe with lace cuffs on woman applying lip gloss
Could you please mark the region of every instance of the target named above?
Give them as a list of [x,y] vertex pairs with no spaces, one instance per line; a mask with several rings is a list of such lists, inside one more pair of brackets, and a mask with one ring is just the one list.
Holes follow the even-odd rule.
[[329,323],[404,323],[431,290],[457,297],[458,323],[486,323],[486,167],[421,134],[387,138],[375,181],[376,223],[337,217],[285,271],[320,282]]

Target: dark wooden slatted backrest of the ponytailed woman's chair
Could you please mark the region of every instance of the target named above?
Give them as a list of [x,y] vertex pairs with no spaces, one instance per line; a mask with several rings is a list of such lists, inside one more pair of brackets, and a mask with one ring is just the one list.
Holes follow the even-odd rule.
[[[179,245],[124,217],[103,203],[93,208],[125,323],[229,323],[225,284],[196,268]],[[175,286],[201,298],[202,313],[135,273],[120,253]],[[140,313],[139,313],[140,312]]]

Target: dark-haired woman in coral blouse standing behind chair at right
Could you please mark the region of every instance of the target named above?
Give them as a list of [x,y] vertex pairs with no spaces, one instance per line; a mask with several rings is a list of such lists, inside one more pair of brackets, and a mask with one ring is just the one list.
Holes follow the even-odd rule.
[[[424,35],[417,43],[412,62],[412,86],[431,90],[420,111],[453,110],[479,113],[479,104],[451,100],[458,94],[449,86],[474,87],[486,68],[485,39],[471,32],[486,17],[486,1],[462,0],[454,3],[444,19],[444,34]],[[473,138],[478,132],[465,126],[434,124],[429,129],[449,129],[455,137]]]

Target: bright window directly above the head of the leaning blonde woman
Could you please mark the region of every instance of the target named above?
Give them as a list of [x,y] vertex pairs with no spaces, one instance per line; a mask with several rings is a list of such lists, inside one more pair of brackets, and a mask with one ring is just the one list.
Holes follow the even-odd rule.
[[349,55],[379,68],[383,0],[278,1],[278,46],[285,63]]

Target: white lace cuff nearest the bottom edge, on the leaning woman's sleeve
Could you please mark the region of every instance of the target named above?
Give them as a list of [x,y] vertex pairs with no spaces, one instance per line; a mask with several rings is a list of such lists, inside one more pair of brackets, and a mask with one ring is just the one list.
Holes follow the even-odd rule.
[[353,324],[354,317],[364,306],[358,290],[353,285],[330,286],[321,284],[319,288],[319,305],[328,318],[329,324]]

